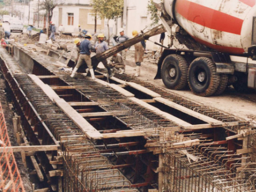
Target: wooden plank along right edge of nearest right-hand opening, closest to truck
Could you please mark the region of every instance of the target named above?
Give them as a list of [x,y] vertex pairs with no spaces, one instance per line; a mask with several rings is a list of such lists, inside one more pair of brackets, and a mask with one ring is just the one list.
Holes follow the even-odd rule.
[[195,117],[195,118],[198,118],[204,122],[208,122],[209,124],[211,125],[222,125],[223,122],[222,121],[218,121],[218,120],[215,120],[214,118],[211,118],[211,117],[208,117],[208,116],[205,116],[201,113],[197,113],[197,112],[194,112],[193,110],[191,109],[188,109],[184,106],[181,106],[181,105],[178,105],[177,103],[174,103],[172,101],[169,101],[167,99],[164,99],[164,98],[161,98],[161,97],[158,97],[158,98],[154,98],[155,101],[159,102],[159,103],[163,103],[169,107],[172,107],[173,109],[177,109],[179,110],[180,112],[183,112],[183,113],[186,113],[188,114],[189,116],[192,116],[192,117]]

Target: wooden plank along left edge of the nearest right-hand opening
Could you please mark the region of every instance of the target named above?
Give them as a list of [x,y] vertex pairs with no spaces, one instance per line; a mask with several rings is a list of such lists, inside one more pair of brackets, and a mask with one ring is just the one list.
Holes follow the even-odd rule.
[[175,122],[177,125],[180,125],[180,126],[193,126],[192,124],[189,124],[188,122],[186,121],[183,121],[175,116],[172,116],[171,114],[169,113],[166,113],[166,112],[162,112],[160,109],[146,103],[146,102],[143,102],[141,101],[140,99],[137,99],[135,97],[130,97],[129,98],[131,101],[133,102],[136,102],[137,104],[139,104],[140,106],[143,106],[143,107],[146,107],[147,109],[149,110],[152,110],[153,112],[165,117],[167,120],[170,120],[170,121],[173,121]]

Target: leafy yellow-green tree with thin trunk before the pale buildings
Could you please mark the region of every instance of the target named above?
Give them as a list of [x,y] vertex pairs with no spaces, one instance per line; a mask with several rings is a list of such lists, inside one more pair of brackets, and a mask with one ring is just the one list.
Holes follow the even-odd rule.
[[94,12],[101,19],[106,18],[108,25],[108,44],[110,39],[109,20],[117,19],[123,14],[124,0],[91,0]]

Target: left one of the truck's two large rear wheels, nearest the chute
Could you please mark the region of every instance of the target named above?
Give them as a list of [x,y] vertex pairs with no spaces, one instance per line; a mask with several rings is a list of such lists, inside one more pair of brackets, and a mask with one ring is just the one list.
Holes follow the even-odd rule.
[[184,89],[188,84],[188,63],[181,55],[169,55],[163,60],[161,76],[167,88]]

